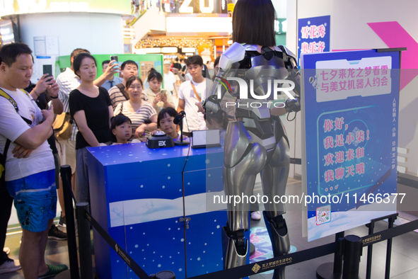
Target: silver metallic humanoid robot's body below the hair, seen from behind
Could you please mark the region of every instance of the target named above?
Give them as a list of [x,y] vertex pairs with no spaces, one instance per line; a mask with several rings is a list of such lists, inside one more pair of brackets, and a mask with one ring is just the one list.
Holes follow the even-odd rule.
[[[219,62],[219,74],[215,79],[211,95],[203,103],[206,113],[219,113],[221,100],[226,91],[237,97],[235,116],[237,121],[228,123],[225,136],[223,158],[223,190],[226,196],[246,195],[250,197],[255,177],[260,173],[262,190],[272,201],[275,195],[284,195],[289,176],[289,140],[279,117],[270,115],[267,105],[261,101],[272,101],[273,80],[294,82],[296,98],[289,98],[285,106],[287,112],[300,110],[300,79],[296,58],[286,47],[260,47],[240,45],[234,42],[223,52]],[[257,51],[258,50],[258,51]],[[240,86],[233,86],[233,78],[240,77],[248,83],[254,94],[248,99],[239,99]],[[252,80],[252,86],[250,86]],[[231,87],[218,84],[228,81]],[[290,84],[290,83],[289,83]],[[269,88],[270,86],[270,88]],[[219,96],[221,95],[221,96]],[[254,95],[257,97],[254,98]],[[268,96],[262,100],[261,96]],[[248,211],[246,201],[237,205],[227,204],[228,223],[222,230],[223,268],[245,265],[248,253]],[[274,256],[288,254],[290,250],[289,233],[283,218],[286,212],[282,203],[265,203],[263,212]],[[274,271],[274,278],[284,278],[284,268]]]

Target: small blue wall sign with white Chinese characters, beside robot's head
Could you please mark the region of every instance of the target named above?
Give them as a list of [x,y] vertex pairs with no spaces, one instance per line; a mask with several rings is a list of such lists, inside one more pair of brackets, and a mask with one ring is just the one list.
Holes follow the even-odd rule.
[[298,59],[301,53],[330,51],[330,16],[298,19]]

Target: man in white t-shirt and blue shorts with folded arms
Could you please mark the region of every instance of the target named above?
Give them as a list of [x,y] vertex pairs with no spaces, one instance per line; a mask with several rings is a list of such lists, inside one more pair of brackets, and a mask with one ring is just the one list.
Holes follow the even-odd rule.
[[[47,142],[54,111],[41,111],[28,92],[20,90],[30,83],[31,54],[22,43],[0,50],[0,89],[4,93],[0,97],[0,153],[6,155],[6,188],[14,198],[23,231],[19,261],[26,279],[52,277],[68,269],[45,263],[48,229],[57,210],[54,156]],[[16,147],[27,150],[25,156],[13,156]]]

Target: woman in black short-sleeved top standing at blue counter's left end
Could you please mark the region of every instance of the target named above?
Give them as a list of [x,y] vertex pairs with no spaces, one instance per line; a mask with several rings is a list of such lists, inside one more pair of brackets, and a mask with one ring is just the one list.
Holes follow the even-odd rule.
[[81,79],[79,87],[69,94],[70,114],[76,121],[76,190],[78,203],[90,203],[87,173],[86,147],[98,147],[110,143],[110,118],[112,103],[108,91],[93,84],[97,74],[95,58],[80,53],[74,58],[74,73]]

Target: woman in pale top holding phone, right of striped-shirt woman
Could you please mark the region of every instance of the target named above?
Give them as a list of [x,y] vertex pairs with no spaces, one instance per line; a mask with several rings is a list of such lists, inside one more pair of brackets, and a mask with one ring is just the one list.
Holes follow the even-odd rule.
[[148,102],[159,113],[163,108],[174,108],[173,96],[165,89],[161,89],[163,83],[163,76],[151,68],[148,74],[149,89],[146,89],[144,93],[148,96]]

